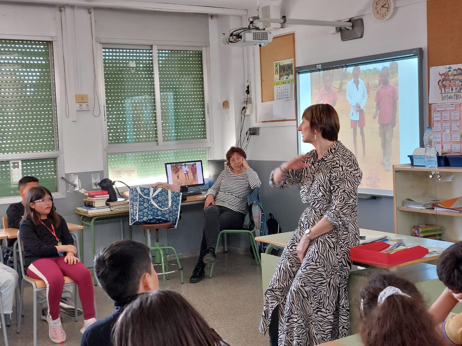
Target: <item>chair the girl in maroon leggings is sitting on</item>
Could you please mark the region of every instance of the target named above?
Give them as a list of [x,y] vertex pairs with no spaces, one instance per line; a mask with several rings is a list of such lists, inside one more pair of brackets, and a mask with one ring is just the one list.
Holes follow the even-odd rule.
[[[70,233],[74,240],[75,247],[77,248],[76,257],[79,258],[79,253],[80,253],[79,252],[79,239],[78,239],[79,237],[77,237],[77,235],[75,235],[73,232],[70,232]],[[34,315],[33,315],[34,317],[34,324],[33,324],[34,326],[34,346],[37,346],[37,292],[46,290],[47,286],[45,284],[45,281],[40,280],[40,279],[34,279],[26,275],[25,270],[24,270],[24,254],[23,254],[23,249],[22,249],[23,243],[21,241],[19,231],[18,231],[18,241],[15,243],[15,245],[17,246],[17,244],[20,244],[20,246],[18,246],[19,248],[18,250],[19,250],[19,261],[21,263],[21,274],[22,274],[21,291],[19,293],[19,311],[22,311],[22,308],[23,308],[24,283],[27,282],[27,283],[30,283],[30,285],[32,285],[33,294],[34,294],[33,296],[34,297],[34,300],[33,300],[33,304],[34,304]],[[64,286],[74,286],[74,303],[75,303],[74,321],[77,322],[77,291],[78,291],[77,284],[70,277],[64,276]],[[97,319],[96,299],[95,299],[95,317]],[[21,326],[21,314],[18,314],[18,330],[16,331],[16,333],[19,333],[20,326]]]

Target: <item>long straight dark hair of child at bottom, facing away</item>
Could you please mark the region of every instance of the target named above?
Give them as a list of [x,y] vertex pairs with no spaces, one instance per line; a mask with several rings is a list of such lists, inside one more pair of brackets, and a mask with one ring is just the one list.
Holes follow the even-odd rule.
[[112,339],[114,346],[229,346],[173,291],[140,294],[117,320]]

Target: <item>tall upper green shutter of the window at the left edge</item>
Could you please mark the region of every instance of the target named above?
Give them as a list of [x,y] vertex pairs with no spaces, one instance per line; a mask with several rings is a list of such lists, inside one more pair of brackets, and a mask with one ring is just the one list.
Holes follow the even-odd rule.
[[57,150],[49,42],[0,40],[0,154]]

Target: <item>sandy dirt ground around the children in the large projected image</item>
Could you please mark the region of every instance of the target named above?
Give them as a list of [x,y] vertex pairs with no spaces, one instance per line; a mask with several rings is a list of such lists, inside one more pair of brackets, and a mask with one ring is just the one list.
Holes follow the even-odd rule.
[[[396,85],[396,84],[395,84]],[[364,136],[366,142],[366,161],[363,162],[363,147],[361,143],[361,134],[359,128],[356,129],[356,144],[358,148],[358,163],[361,171],[363,172],[362,185],[360,187],[372,188],[367,185],[368,177],[373,174],[372,170],[377,170],[380,177],[380,189],[381,190],[393,190],[393,175],[392,171],[385,171],[385,166],[382,165],[383,153],[382,153],[382,142],[379,136],[379,124],[377,119],[372,119],[375,112],[375,95],[376,90],[372,90],[370,95],[367,97],[367,102],[364,107],[364,115],[366,125],[364,127]],[[339,114],[340,118],[340,132],[339,140],[354,153],[353,145],[353,129],[350,125],[350,105],[346,101],[346,91],[337,91],[339,100],[335,105],[335,110]],[[316,97],[313,97],[313,102]],[[399,101],[398,101],[399,102]],[[398,108],[399,109],[399,108]],[[396,124],[399,124],[399,112],[396,114]],[[400,133],[398,126],[395,126],[393,131],[393,142],[392,142],[392,153],[391,162],[392,164],[398,164],[400,162]]]

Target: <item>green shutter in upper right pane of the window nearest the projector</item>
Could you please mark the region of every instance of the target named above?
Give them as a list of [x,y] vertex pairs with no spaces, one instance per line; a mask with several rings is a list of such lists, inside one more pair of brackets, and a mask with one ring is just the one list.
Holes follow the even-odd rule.
[[162,140],[205,139],[202,51],[158,50]]

